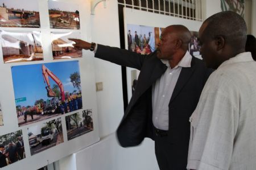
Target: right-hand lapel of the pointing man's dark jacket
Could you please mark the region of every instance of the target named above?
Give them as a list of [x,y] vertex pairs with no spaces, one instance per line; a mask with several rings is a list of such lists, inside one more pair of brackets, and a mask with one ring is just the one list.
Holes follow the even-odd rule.
[[184,87],[184,85],[188,82],[191,77],[193,71],[195,70],[195,58],[192,57],[191,67],[184,67],[181,69],[180,76],[177,80],[177,83],[174,88],[174,92],[172,93],[172,97],[170,103],[174,100],[174,98],[180,93],[180,90]]

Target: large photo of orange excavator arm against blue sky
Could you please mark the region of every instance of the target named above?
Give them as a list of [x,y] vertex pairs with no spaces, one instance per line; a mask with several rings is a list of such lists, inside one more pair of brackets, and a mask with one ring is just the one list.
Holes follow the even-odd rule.
[[11,67],[19,126],[82,109],[79,61]]

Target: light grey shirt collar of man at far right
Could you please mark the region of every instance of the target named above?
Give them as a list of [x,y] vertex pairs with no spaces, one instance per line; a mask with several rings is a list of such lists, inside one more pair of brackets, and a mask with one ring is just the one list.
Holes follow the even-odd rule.
[[230,58],[229,60],[224,61],[219,68],[224,67],[225,65],[233,64],[233,63],[242,63],[242,62],[248,62],[248,61],[254,61],[253,57],[251,57],[251,52],[242,52]]

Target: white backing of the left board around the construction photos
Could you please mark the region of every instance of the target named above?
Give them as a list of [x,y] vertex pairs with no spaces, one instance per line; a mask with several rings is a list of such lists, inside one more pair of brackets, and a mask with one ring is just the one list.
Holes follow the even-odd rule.
[[[8,2],[14,1],[14,0],[8,0],[5,1],[5,5],[1,3],[0,9],[8,8],[8,5],[10,7],[10,4]],[[6,143],[4,143],[1,136],[4,136],[6,134],[10,134],[12,132],[16,131],[22,131],[22,138],[24,142],[24,152],[26,155],[26,158],[16,161],[15,163],[9,164],[2,169],[39,169],[41,167],[44,167],[47,164],[50,164],[56,160],[59,160],[67,155],[70,155],[72,153],[75,153],[81,148],[85,148],[87,146],[90,146],[93,143],[98,142],[99,140],[99,133],[98,133],[98,118],[97,118],[97,102],[96,102],[96,88],[95,88],[95,77],[94,77],[94,59],[93,59],[93,53],[88,51],[82,51],[82,57],[77,58],[65,58],[65,59],[59,59],[59,60],[53,60],[53,52],[52,52],[52,44],[51,44],[51,32],[57,32],[58,34],[60,32],[63,32],[63,34],[66,34],[67,32],[73,32],[71,35],[80,35],[81,39],[87,39],[90,40],[90,1],[83,1],[83,0],[58,0],[54,1],[59,3],[59,7],[56,7],[56,9],[62,9],[65,8],[63,11],[68,10],[68,7],[71,7],[73,5],[77,6],[79,11],[79,20],[80,20],[80,29],[69,29],[69,28],[51,28],[50,22],[49,22],[49,13],[48,13],[48,0],[32,0],[38,2],[38,10],[40,14],[40,27],[0,27],[0,30],[3,32],[32,32],[32,31],[40,31],[41,37],[42,37],[42,49],[43,49],[43,60],[37,60],[37,61],[25,61],[25,62],[18,62],[18,63],[4,63],[3,61],[3,50],[2,45],[0,44],[0,80],[1,80],[1,87],[0,87],[0,103],[1,103],[1,110],[2,110],[2,116],[3,116],[3,126],[0,126],[0,144],[4,144],[6,147]],[[50,1],[50,0],[49,0]],[[15,3],[18,4],[20,7],[16,7],[17,14],[15,17],[18,17],[20,14],[19,11],[22,11],[22,6],[24,6],[24,13],[26,14],[26,7],[31,6],[31,4],[28,3],[28,0],[15,0]],[[13,5],[14,7],[16,5]],[[12,7],[10,7],[11,9]],[[58,10],[59,10],[58,9]],[[15,9],[11,9],[15,11]],[[73,9],[71,9],[72,11]],[[9,14],[10,15],[10,14]],[[13,14],[12,14],[13,15]],[[65,17],[65,13],[62,13]],[[7,15],[6,15],[7,16]],[[5,16],[5,17],[6,17]],[[73,16],[72,16],[73,17]],[[75,17],[75,15],[74,15]],[[3,18],[2,18],[3,19]],[[1,19],[1,20],[2,20]],[[77,21],[77,19],[76,19]],[[69,24],[70,22],[67,20],[59,20],[61,24]],[[79,27],[77,27],[79,28]],[[72,37],[71,37],[72,38]],[[77,38],[77,37],[76,37]],[[10,39],[9,39],[10,40]],[[11,40],[10,40],[11,41]],[[20,41],[22,42],[22,41]],[[19,43],[21,44],[21,43]],[[38,44],[38,43],[36,43]],[[66,49],[66,48],[65,48]],[[17,118],[17,110],[16,110],[16,104],[15,104],[15,97],[16,92],[14,91],[14,85],[13,85],[13,76],[12,76],[12,68],[19,68],[24,66],[24,68],[30,68],[33,65],[49,65],[52,64],[53,66],[59,62],[71,62],[71,63],[77,63],[79,67],[79,73],[80,73],[80,81],[81,81],[81,95],[78,94],[77,90],[74,90],[73,95],[74,98],[79,98],[82,96],[82,109],[76,109],[75,111],[72,111],[69,109],[68,113],[65,114],[58,114],[55,117],[48,117],[47,119],[39,119],[39,121],[32,121],[30,124],[24,123],[23,125],[20,124],[18,126],[18,118]],[[53,67],[53,70],[56,69]],[[61,68],[58,72],[65,72],[66,68]],[[68,68],[67,68],[68,69]],[[51,69],[50,69],[51,70]],[[54,71],[51,70],[53,73]],[[27,73],[27,77],[24,76],[23,80],[20,81],[20,85],[30,82],[30,84],[35,84],[33,81],[38,81],[36,78],[31,78],[30,73]],[[32,74],[32,73],[31,73]],[[16,75],[17,76],[17,75]],[[40,76],[42,78],[43,82],[43,76],[42,72],[40,72]],[[40,77],[39,76],[39,77]],[[57,76],[57,75],[56,75]],[[37,76],[38,77],[38,76]],[[58,77],[58,76],[57,76]],[[51,78],[49,78],[51,79]],[[50,80],[51,85],[54,84],[52,80]],[[65,85],[64,90],[65,90]],[[69,82],[69,85],[72,86],[71,82]],[[44,89],[46,92],[46,89]],[[65,90],[66,91],[66,90]],[[70,92],[72,93],[72,92]],[[75,94],[77,93],[77,94]],[[26,98],[27,99],[27,98]],[[23,99],[23,100],[26,100]],[[39,100],[39,95],[35,95],[35,100]],[[66,101],[67,98],[66,98]],[[20,105],[22,105],[22,99],[20,99]],[[82,114],[84,114],[82,111],[92,111],[92,120],[93,120],[93,128],[90,128],[90,131],[86,132],[85,134],[82,134],[80,136],[77,136],[76,138],[69,138],[67,136],[67,127],[66,125],[69,125],[65,121],[65,117],[67,115],[73,115],[75,113],[79,113],[81,119]],[[20,111],[22,112],[22,111]],[[66,111],[67,112],[67,111]],[[22,118],[24,117],[23,113],[19,113],[22,115]],[[27,115],[28,118],[30,118],[30,115]],[[34,115],[34,118],[40,117],[40,115]],[[1,117],[0,117],[1,118]],[[42,125],[46,125],[46,122],[55,120],[57,118],[60,118],[61,125],[62,125],[62,131],[63,131],[63,142],[60,144],[57,144],[56,146],[52,146],[48,149],[45,149],[41,152],[38,152],[34,155],[31,155],[30,152],[30,145],[28,140],[28,130],[33,130],[34,127],[38,126],[39,130],[42,128]],[[22,121],[22,120],[21,120]],[[80,120],[81,123],[81,120]],[[83,123],[79,124],[79,127],[82,127]],[[92,125],[88,125],[88,127],[92,127]],[[54,128],[54,132],[57,133],[56,128]],[[40,132],[38,132],[40,133]],[[14,141],[13,143],[15,143]],[[38,145],[41,146],[41,143]],[[45,144],[44,146],[47,146]]]

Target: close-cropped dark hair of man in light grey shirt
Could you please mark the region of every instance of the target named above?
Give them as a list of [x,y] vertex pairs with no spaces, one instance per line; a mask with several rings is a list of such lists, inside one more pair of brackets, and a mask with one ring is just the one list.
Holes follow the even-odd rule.
[[245,49],[247,28],[245,20],[232,11],[214,14],[205,20],[204,34],[214,39],[222,36],[233,49]]

